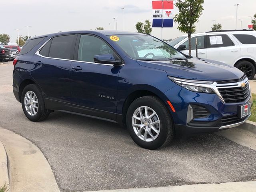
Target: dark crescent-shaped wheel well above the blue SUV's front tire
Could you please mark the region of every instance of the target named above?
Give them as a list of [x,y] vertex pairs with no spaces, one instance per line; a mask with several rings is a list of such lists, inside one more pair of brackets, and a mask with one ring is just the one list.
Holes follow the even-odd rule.
[[[147,90],[138,90],[138,91],[135,91],[135,92],[132,92],[125,100],[124,102],[124,107],[122,109],[122,122],[124,125],[126,125],[126,114],[127,114],[127,110],[130,106],[130,104],[140,98],[140,97],[143,97],[143,96],[149,96],[149,95],[152,95],[152,96],[157,96],[156,94],[150,92],[150,91],[147,91]],[[158,96],[157,96],[158,97]],[[158,97],[159,98],[159,97]]]

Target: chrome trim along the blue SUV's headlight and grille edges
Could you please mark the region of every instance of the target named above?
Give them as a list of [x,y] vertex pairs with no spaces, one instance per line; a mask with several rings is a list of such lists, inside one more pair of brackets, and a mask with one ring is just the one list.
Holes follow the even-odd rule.
[[[180,83],[180,84],[186,84],[186,85],[191,85],[191,86],[198,86],[198,87],[206,87],[206,88],[210,88],[212,89],[217,95],[218,97],[220,98],[220,100],[223,102],[223,103],[226,103],[225,100],[222,98],[222,95],[220,94],[219,92],[219,88],[234,88],[234,87],[241,87],[241,84],[242,83],[245,83],[245,84],[248,84],[249,86],[249,95],[251,96],[251,90],[250,90],[250,84],[249,84],[249,80],[248,78],[246,77],[244,80],[242,81],[239,81],[239,82],[235,82],[235,83],[225,83],[225,84],[217,84],[216,81],[214,81],[212,84],[206,84],[204,81],[204,83],[196,83],[196,82],[193,82],[193,80],[191,80],[191,83],[189,82],[189,80],[187,79],[180,79],[180,78],[174,78],[172,77],[174,82],[177,82],[177,83]],[[193,83],[192,83],[193,82]],[[234,104],[234,103],[230,103],[230,104]]]

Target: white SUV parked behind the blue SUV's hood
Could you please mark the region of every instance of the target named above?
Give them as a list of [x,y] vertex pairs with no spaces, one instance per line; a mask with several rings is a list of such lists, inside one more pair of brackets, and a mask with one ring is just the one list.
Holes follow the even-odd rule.
[[[256,69],[256,31],[222,30],[191,35],[191,56],[196,56],[196,38],[198,57],[216,60],[243,71],[253,79]],[[188,54],[188,36],[180,36],[168,44]]]

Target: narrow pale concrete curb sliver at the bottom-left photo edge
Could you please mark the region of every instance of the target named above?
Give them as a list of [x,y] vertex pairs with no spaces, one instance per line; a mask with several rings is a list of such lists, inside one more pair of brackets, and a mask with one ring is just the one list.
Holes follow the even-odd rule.
[[[6,184],[9,186],[8,156],[4,144],[0,141],[0,187]],[[8,187],[9,188],[9,187]]]

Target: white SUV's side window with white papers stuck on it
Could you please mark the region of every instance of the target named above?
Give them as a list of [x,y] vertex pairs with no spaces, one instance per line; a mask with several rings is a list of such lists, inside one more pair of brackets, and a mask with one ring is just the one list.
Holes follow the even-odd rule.
[[208,35],[207,48],[234,46],[228,35]]

